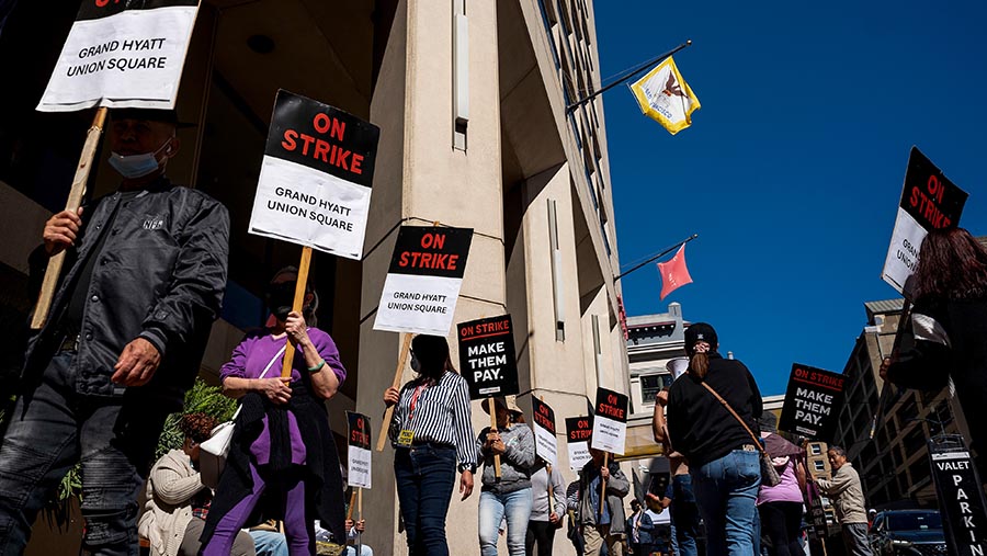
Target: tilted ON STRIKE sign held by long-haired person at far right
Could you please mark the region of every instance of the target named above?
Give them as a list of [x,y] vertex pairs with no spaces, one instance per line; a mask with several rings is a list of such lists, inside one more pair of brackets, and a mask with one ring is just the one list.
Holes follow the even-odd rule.
[[956,226],[967,196],[917,147],[911,147],[883,273],[884,281],[899,294],[908,293],[906,283],[915,272],[926,235],[933,229]]

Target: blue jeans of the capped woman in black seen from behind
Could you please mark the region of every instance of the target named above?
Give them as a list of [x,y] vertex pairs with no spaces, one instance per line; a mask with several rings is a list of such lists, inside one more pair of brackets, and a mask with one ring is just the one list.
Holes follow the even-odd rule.
[[758,452],[735,450],[699,468],[690,468],[699,510],[706,522],[707,556],[759,553],[759,457]]

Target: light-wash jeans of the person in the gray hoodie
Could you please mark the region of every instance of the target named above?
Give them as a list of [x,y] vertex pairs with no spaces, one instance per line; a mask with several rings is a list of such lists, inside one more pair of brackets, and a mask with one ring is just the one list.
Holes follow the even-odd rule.
[[480,492],[480,556],[497,556],[497,535],[503,519],[508,522],[508,554],[524,556],[529,518],[531,518],[531,487],[506,495],[486,490]]

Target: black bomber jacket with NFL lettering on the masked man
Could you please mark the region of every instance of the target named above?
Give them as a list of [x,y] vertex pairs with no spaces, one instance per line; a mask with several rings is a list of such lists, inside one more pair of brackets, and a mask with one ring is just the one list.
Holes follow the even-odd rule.
[[[30,389],[36,384],[58,350],[60,320],[78,275],[89,258],[99,257],[86,293],[73,363],[79,392],[120,395],[122,389],[110,382],[113,365],[124,347],[140,337],[161,352],[161,364],[139,394],[178,410],[198,374],[226,288],[226,207],[162,178],[128,201],[122,201],[118,192],[94,200],[84,207],[82,223],[76,247],[67,252],[48,319],[29,343],[23,385]],[[94,253],[101,236],[105,240]],[[44,248],[32,253],[32,282],[39,283],[47,262]]]

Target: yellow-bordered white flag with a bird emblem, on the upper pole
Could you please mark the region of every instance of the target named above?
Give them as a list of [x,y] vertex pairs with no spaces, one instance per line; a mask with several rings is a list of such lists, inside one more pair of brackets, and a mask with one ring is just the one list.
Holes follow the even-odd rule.
[[631,92],[640,111],[672,135],[692,125],[692,112],[700,107],[699,99],[682,79],[671,56],[632,84]]

